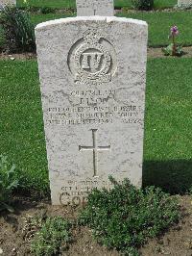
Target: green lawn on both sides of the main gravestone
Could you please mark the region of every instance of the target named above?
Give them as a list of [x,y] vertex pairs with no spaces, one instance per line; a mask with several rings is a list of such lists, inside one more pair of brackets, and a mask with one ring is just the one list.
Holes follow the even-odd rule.
[[[36,61],[0,62],[0,153],[22,169],[24,183],[48,186]],[[191,59],[148,62],[144,185],[180,192],[192,184]]]

